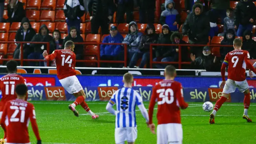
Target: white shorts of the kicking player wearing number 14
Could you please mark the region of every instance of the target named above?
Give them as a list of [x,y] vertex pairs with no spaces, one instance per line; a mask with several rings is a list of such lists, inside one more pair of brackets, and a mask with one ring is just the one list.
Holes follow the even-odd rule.
[[78,93],[80,90],[83,90],[76,76],[69,76],[59,81],[63,88],[70,94]]

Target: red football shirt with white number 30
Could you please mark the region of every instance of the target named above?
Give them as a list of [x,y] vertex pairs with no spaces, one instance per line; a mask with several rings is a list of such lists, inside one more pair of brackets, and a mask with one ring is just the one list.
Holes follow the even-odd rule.
[[163,80],[153,88],[148,108],[149,124],[152,124],[156,102],[158,124],[181,123],[180,107],[187,108],[188,104],[184,101],[182,85],[179,82]]

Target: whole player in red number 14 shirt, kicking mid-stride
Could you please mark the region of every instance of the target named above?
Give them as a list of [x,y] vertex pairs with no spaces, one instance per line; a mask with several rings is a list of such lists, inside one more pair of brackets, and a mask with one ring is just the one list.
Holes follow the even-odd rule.
[[99,116],[94,114],[84,101],[86,95],[83,87],[76,77],[76,54],[74,53],[74,48],[74,42],[69,40],[66,42],[64,50],[54,50],[54,52],[52,52],[50,55],[48,55],[45,50],[43,56],[46,60],[52,61],[55,59],[57,77],[61,85],[68,93],[73,94],[76,97],[76,101],[74,101],[73,104],[70,104],[68,108],[72,110],[75,116],[78,117],[79,114],[75,107],[80,104],[84,110],[86,110],[86,112],[92,116],[93,119],[96,119]]

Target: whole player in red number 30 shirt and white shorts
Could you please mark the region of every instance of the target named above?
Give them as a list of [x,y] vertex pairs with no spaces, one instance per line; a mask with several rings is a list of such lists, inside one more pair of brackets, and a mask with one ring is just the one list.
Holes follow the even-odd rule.
[[166,66],[164,70],[165,80],[159,82],[152,90],[152,96],[148,108],[149,127],[155,134],[155,125],[152,123],[154,106],[157,102],[157,144],[182,144],[182,125],[180,120],[180,108],[186,109],[188,104],[184,101],[182,85],[174,81],[176,69],[174,66]]

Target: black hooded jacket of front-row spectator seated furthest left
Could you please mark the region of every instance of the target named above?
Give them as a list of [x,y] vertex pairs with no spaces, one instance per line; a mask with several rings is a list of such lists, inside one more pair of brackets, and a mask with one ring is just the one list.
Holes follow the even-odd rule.
[[[24,31],[23,31],[23,26],[22,26],[24,22],[29,23],[29,28],[26,32],[25,38],[24,38]],[[35,34],[36,34],[36,31],[31,27],[31,24],[30,24],[28,18],[25,17],[25,18],[22,19],[20,28],[16,32],[15,41],[16,42],[30,42]],[[20,44],[17,45],[17,48],[20,48]],[[31,52],[33,51],[30,48],[30,44],[29,45],[28,44],[23,44],[23,50],[25,50],[25,49],[29,50]]]

